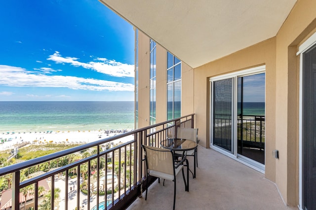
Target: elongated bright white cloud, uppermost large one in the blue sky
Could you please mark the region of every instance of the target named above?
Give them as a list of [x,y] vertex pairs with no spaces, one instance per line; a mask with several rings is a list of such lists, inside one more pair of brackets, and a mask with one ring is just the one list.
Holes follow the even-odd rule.
[[134,77],[134,65],[122,64],[106,58],[97,58],[94,59],[95,62],[82,63],[78,61],[79,58],[62,57],[60,53],[56,51],[53,55],[50,55],[47,60],[54,61],[57,64],[67,63],[75,67],[83,67],[116,77]]

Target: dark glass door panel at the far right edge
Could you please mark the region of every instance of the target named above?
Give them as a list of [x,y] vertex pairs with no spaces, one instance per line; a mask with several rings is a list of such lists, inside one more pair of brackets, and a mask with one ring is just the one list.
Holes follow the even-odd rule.
[[316,45],[303,54],[303,209],[316,209]]

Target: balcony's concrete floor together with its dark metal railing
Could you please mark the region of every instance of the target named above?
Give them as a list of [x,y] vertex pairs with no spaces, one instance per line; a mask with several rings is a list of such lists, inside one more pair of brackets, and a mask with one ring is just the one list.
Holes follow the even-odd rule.
[[[159,146],[174,137],[179,122],[193,127],[194,114],[1,168],[11,187],[2,191],[0,209],[169,209],[173,184],[168,181],[162,186],[151,177],[148,200],[138,198],[146,189],[141,144]],[[87,150],[94,152],[74,160]],[[190,162],[193,166],[193,158]],[[43,165],[49,170],[39,171]],[[273,182],[229,157],[199,146],[198,165],[190,192],[177,180],[176,209],[290,209]]]

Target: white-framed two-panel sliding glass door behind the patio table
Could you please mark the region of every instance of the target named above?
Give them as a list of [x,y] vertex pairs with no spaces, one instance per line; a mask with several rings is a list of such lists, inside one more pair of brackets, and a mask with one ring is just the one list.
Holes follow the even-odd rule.
[[264,171],[265,66],[210,81],[211,147]]

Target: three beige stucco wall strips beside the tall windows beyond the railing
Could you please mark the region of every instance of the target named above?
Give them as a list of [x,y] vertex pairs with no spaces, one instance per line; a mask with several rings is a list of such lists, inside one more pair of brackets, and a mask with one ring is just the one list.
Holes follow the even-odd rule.
[[[149,126],[150,108],[150,38],[139,31],[138,34],[138,128]],[[156,122],[167,119],[167,51],[156,45]],[[194,113],[194,71],[187,64],[181,64],[181,115]]]

